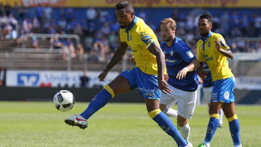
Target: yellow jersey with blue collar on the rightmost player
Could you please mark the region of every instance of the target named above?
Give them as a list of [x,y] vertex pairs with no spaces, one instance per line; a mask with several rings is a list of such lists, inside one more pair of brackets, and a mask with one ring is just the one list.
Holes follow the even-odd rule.
[[210,32],[205,40],[198,41],[198,61],[206,61],[211,71],[212,81],[233,77],[231,69],[228,67],[227,57],[215,48],[215,40],[220,40],[220,48],[230,50],[222,35]]

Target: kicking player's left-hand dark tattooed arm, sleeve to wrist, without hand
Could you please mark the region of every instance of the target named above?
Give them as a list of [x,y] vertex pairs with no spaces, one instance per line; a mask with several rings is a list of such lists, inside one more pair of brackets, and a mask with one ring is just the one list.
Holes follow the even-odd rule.
[[108,63],[108,65],[106,66],[106,69],[104,70],[105,72],[109,72],[109,70],[112,69],[112,67],[114,67],[117,63],[119,63],[124,54],[126,53],[126,50],[128,48],[128,45],[126,42],[119,42],[119,45],[115,51],[115,53],[112,56],[111,61]]

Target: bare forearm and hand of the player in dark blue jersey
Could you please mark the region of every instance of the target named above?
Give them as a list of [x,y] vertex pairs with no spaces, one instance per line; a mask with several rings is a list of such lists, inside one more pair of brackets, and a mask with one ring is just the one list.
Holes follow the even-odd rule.
[[192,72],[194,70],[196,70],[198,67],[200,67],[200,63],[198,61],[198,59],[194,59],[190,62],[190,64],[186,67],[184,67],[183,69],[181,69],[176,78],[177,79],[183,79],[183,78],[186,78],[186,75],[187,75],[187,72]]

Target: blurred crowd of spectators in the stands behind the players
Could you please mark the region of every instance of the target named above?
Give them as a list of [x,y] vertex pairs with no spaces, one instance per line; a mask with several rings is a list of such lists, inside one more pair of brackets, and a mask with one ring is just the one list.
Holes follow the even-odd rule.
[[[75,11],[72,8],[59,8],[58,18],[54,18],[53,10],[48,4],[39,4],[33,8],[34,16],[29,19],[26,14],[29,8],[20,7],[15,3],[11,7],[7,2],[0,3],[1,39],[16,39],[17,44],[29,43],[31,48],[40,49],[40,41],[36,36],[29,38],[28,33],[55,34],[50,38],[51,49],[69,49],[72,59],[83,60],[84,53],[89,53],[91,61],[109,61],[119,43],[119,23],[114,13],[108,9],[96,9],[89,7],[85,14],[76,19]],[[58,9],[58,8],[55,8]],[[30,11],[32,9],[30,8]],[[142,18],[154,31],[159,42],[162,42],[160,26],[148,22],[148,13],[140,9],[135,11],[136,15]],[[196,50],[197,41],[200,39],[197,23],[199,16],[207,10],[192,9],[184,11],[174,9],[171,17],[176,20],[176,36],[182,38],[192,50]],[[222,34],[232,52],[261,52],[261,42],[250,42],[245,40],[235,41],[235,37],[261,37],[261,16],[258,12],[238,14],[235,10],[229,13],[227,10],[222,13],[211,14],[213,17],[213,32]],[[16,21],[18,20],[18,21]],[[157,22],[159,22],[158,20]],[[19,28],[17,30],[16,23]],[[76,45],[73,39],[61,39],[59,34],[77,34],[81,43]],[[131,56],[130,50],[127,52]],[[63,56],[63,59],[68,57]]]

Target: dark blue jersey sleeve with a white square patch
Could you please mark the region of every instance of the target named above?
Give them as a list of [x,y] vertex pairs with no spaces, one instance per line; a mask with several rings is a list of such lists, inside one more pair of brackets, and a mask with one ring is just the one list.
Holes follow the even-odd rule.
[[177,44],[177,46],[178,46],[177,51],[179,55],[187,63],[190,63],[192,60],[197,59],[185,42],[180,42]]

